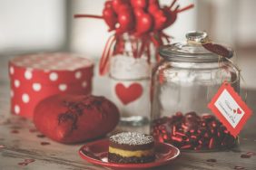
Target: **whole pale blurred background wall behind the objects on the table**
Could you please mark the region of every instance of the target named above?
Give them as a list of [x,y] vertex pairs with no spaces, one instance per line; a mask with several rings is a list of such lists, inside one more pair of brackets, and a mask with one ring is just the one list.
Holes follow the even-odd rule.
[[[162,5],[172,0],[160,0]],[[104,0],[0,0],[0,56],[25,52],[72,51],[99,58],[112,34],[101,20],[73,14],[101,14]],[[212,40],[232,46],[248,88],[256,89],[255,0],[180,0],[195,8],[165,30],[182,41],[190,30],[208,32]],[[244,86],[243,83],[241,83]]]

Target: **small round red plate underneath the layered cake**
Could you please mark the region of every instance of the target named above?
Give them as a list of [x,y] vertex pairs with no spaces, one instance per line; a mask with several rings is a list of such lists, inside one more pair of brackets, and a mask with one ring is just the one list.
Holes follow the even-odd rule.
[[82,146],[79,155],[94,165],[103,165],[114,169],[143,169],[166,165],[180,155],[180,150],[166,143],[155,144],[156,159],[152,163],[144,164],[117,164],[108,162],[108,139],[98,140]]

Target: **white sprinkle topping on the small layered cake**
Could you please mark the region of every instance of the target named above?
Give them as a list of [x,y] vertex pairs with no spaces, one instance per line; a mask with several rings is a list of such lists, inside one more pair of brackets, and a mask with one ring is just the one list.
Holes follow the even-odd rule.
[[153,142],[153,137],[137,132],[123,132],[110,137],[110,140],[117,144],[138,146]]

